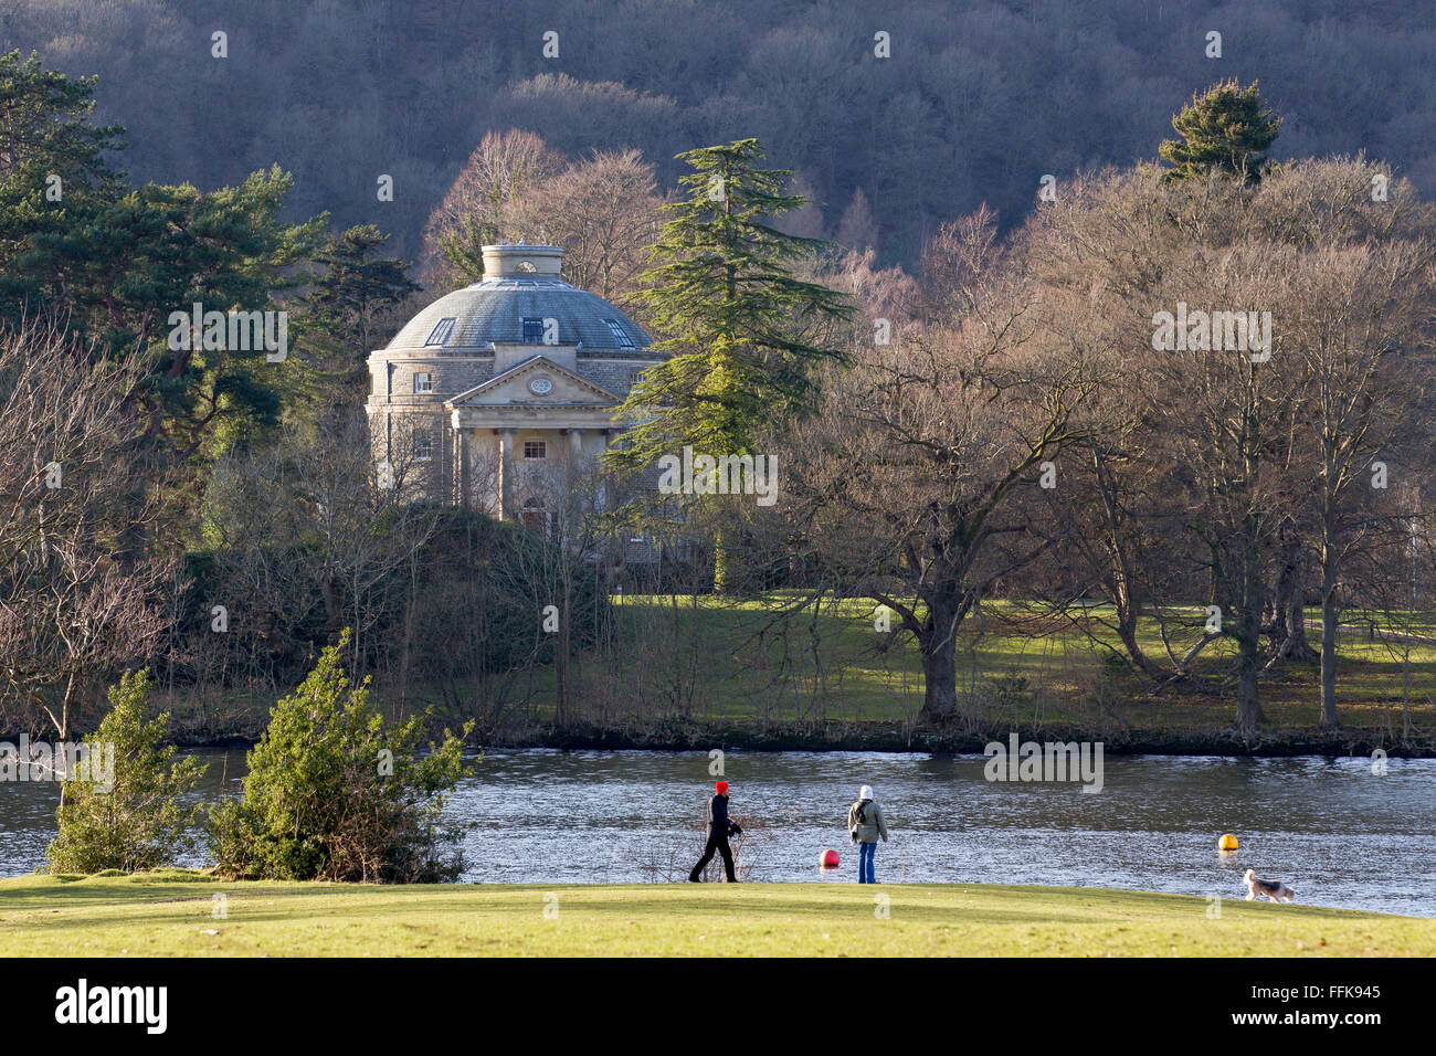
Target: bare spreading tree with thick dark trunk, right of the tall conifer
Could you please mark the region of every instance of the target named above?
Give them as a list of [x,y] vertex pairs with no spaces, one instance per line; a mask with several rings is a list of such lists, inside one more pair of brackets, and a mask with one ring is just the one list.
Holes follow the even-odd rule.
[[1093,389],[1086,349],[1044,328],[991,216],[955,226],[945,246],[932,287],[942,318],[902,343],[856,348],[784,443],[808,566],[916,638],[923,717],[938,723],[958,711],[959,625],[1054,542],[1032,493],[1078,438],[1074,412]]

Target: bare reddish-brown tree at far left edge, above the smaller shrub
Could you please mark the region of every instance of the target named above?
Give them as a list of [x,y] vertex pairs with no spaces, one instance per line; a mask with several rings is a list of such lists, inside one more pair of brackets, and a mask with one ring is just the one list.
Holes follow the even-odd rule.
[[142,549],[159,504],[138,378],[55,326],[0,336],[0,671],[60,740],[89,693],[164,638],[177,570]]

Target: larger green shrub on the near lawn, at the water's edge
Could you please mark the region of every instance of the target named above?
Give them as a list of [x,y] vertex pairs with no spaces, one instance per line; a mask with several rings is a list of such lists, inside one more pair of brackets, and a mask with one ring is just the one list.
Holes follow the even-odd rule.
[[352,688],[345,675],[348,642],[346,631],[274,705],[248,754],[243,796],[211,812],[221,874],[414,884],[462,869],[458,833],[438,823],[462,773],[462,737],[445,730],[442,744],[416,757],[424,717],[386,728],[369,704],[369,680]]

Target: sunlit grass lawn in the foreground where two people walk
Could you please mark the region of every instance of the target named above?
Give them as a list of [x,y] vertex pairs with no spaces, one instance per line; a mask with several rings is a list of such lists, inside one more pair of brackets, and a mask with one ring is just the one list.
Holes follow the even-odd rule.
[[1097,888],[362,886],[167,871],[0,881],[0,955],[1436,955],[1436,920],[1244,901],[1206,914],[1205,898]]

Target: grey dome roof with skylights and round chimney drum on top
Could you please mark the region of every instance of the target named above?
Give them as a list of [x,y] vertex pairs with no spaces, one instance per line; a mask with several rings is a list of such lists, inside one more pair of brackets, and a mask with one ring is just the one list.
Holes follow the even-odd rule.
[[474,349],[494,342],[521,345],[526,339],[533,343],[534,322],[543,326],[544,319],[557,320],[560,345],[625,352],[652,345],[623,312],[559,277],[561,253],[556,246],[485,246],[484,280],[425,307],[388,349]]

